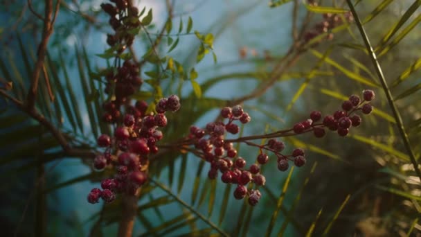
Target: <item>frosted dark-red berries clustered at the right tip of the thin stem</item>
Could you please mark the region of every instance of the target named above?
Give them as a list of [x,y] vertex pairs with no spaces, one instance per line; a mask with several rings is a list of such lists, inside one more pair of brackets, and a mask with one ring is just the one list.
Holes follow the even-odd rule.
[[[348,100],[343,101],[341,110],[325,116],[323,121],[321,121],[321,112],[313,111],[310,114],[310,119],[296,123],[293,131],[296,134],[313,131],[314,136],[320,138],[325,136],[325,128],[328,128],[331,131],[337,131],[339,136],[345,137],[350,128],[361,124],[361,117],[354,113],[361,110],[363,114],[370,114],[373,111],[373,106],[369,102],[374,98],[374,91],[366,89],[363,91],[363,100],[357,95],[350,96]],[[321,121],[321,123],[315,123],[317,121]]]

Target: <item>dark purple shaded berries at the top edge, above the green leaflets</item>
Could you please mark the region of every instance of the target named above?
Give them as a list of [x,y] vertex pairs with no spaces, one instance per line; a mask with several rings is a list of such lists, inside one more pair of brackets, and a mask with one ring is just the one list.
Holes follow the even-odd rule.
[[109,25],[114,29],[114,35],[107,35],[107,44],[116,46],[118,53],[123,53],[127,46],[131,46],[134,34],[131,30],[138,28],[141,21],[138,18],[139,10],[135,6],[130,6],[127,0],[110,0],[115,3],[102,3],[101,8],[110,16]]

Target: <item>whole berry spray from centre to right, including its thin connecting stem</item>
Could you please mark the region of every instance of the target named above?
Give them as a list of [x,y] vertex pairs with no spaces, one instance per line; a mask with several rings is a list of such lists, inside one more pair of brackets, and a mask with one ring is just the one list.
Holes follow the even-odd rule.
[[[351,127],[357,127],[361,123],[361,117],[355,112],[361,110],[363,114],[370,114],[373,110],[370,101],[375,98],[375,94],[371,90],[363,91],[363,100],[359,96],[352,95],[349,100],[342,104],[343,110],[334,112],[333,115],[325,116],[323,123],[314,123],[320,121],[322,118],[321,112],[314,111],[310,114],[310,119],[301,123],[296,123],[293,128],[274,132],[271,134],[264,134],[261,136],[240,137],[239,139],[224,139],[226,132],[237,134],[239,127],[234,121],[240,123],[249,123],[251,117],[243,111],[240,105],[234,107],[224,107],[221,110],[221,116],[228,119],[224,121],[211,122],[206,124],[206,128],[201,129],[196,126],[190,127],[190,134],[188,139],[192,141],[197,152],[196,155],[208,161],[211,164],[211,169],[208,171],[210,179],[216,179],[218,173],[222,173],[221,180],[226,184],[237,184],[233,193],[234,198],[241,200],[248,196],[248,202],[251,206],[258,204],[262,194],[257,189],[249,190],[249,184],[254,183],[256,186],[265,185],[266,178],[262,175],[261,166],[269,161],[267,152],[274,154],[277,158],[277,167],[280,171],[288,170],[289,162],[294,166],[304,166],[305,151],[302,148],[294,148],[292,153],[285,155],[285,143],[278,141],[274,137],[285,137],[302,134],[305,132],[314,132],[315,137],[324,137],[325,128],[344,137],[348,134]],[[258,145],[251,142],[253,139],[271,138],[267,143]],[[247,161],[243,157],[238,157],[238,152],[233,147],[233,142],[243,142],[249,146],[258,147],[260,152],[256,160],[250,166],[247,166]]]

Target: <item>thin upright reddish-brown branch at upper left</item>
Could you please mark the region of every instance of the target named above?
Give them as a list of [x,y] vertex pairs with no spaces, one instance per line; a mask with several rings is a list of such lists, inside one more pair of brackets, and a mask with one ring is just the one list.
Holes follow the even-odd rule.
[[[57,12],[55,12],[55,15],[57,15]],[[46,0],[42,41],[38,45],[38,50],[37,50],[38,59],[37,59],[37,62],[35,63],[35,68],[33,70],[32,78],[31,78],[32,82],[30,85],[30,89],[28,91],[28,96],[26,96],[26,103],[27,103],[28,109],[34,109],[35,107],[35,100],[37,98],[37,91],[38,91],[39,73],[41,72],[42,67],[44,65],[44,58],[46,55],[48,39],[53,33],[53,22],[51,21],[52,16],[53,16],[53,0]]]

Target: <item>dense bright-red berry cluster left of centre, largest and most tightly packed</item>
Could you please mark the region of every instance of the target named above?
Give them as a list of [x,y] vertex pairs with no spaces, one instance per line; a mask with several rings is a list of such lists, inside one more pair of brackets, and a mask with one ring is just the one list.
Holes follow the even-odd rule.
[[145,114],[147,103],[138,101],[135,106],[127,107],[123,125],[114,130],[113,138],[107,134],[98,137],[98,146],[105,148],[105,152],[96,156],[93,167],[97,170],[114,167],[116,175],[101,182],[102,191],[93,188],[88,202],[96,203],[99,198],[112,202],[116,193],[136,194],[147,180],[148,155],[158,152],[156,142],[163,138],[159,128],[167,125],[165,112],[176,112],[180,106],[178,96],[172,95],[159,100],[156,114]]

